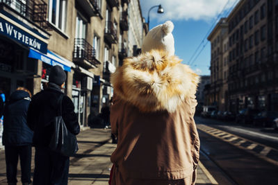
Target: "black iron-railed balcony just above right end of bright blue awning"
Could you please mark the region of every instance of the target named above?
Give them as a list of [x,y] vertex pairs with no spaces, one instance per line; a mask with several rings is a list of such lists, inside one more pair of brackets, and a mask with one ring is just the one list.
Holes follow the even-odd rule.
[[74,62],[85,69],[96,68],[101,62],[95,58],[95,54],[95,49],[85,39],[74,39]]

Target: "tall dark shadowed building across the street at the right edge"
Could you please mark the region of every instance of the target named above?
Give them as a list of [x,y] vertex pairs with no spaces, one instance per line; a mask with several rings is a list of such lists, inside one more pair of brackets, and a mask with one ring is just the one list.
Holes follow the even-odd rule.
[[240,1],[229,23],[229,109],[278,110],[278,1]]

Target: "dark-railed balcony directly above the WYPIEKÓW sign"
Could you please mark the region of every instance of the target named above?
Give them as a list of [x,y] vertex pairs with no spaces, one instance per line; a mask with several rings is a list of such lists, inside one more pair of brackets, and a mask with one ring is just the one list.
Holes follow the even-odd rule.
[[17,14],[38,23],[41,28],[49,28],[47,24],[47,3],[42,0],[0,0],[0,5],[8,6]]

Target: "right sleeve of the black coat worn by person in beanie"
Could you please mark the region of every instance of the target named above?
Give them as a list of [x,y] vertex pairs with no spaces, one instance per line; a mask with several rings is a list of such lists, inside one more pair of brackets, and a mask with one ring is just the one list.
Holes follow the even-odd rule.
[[72,103],[72,100],[68,96],[64,96],[62,101],[62,117],[67,129],[74,135],[79,134],[80,126],[78,118],[74,112],[74,103]]

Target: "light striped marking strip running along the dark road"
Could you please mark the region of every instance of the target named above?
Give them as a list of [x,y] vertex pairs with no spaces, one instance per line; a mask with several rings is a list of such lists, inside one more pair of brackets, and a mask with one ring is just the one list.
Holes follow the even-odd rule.
[[[265,146],[261,143],[256,143],[254,141],[251,141],[249,139],[245,139],[241,136],[236,136],[235,134],[231,134],[229,132],[224,132],[222,130],[218,130],[214,128],[214,132],[208,132],[206,130],[209,130],[213,127],[210,127],[208,125],[204,125],[204,124],[197,124],[197,128],[198,130],[202,130],[203,132],[206,132],[207,134],[210,134],[211,136],[215,136],[218,139],[221,139],[222,141],[228,142],[233,146],[236,146],[237,148],[243,149],[247,152],[252,153],[253,155],[255,155],[256,157],[259,157],[261,159],[264,159],[265,161],[268,161],[272,164],[275,164],[278,166],[278,159],[271,159],[270,157],[268,157],[268,153],[269,152],[278,152],[277,149],[275,148],[270,148],[269,146]],[[227,137],[231,137],[231,139],[225,139]],[[234,142],[238,139],[238,142]],[[250,145],[243,145],[241,146],[242,143],[245,142],[250,142]],[[253,150],[254,148],[256,148],[256,146],[260,146],[261,148],[263,148],[262,150]]]

